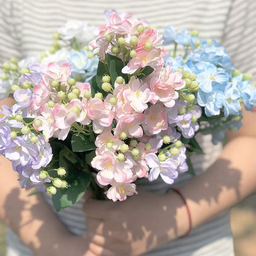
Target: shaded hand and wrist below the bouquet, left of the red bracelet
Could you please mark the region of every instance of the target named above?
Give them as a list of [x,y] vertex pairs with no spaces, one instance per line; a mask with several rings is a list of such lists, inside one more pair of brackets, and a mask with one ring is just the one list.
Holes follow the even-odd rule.
[[[140,255],[177,238],[182,235],[176,223],[178,206],[182,201],[174,194],[148,191],[122,202],[89,199],[83,207],[86,235],[108,252],[91,250],[97,255]],[[188,226],[186,220],[183,223]]]

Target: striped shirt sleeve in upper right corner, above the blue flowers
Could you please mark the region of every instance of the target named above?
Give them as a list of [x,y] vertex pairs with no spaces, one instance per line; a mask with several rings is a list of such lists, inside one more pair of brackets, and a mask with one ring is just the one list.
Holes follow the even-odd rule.
[[231,62],[256,82],[256,1],[233,0],[224,31],[223,45]]

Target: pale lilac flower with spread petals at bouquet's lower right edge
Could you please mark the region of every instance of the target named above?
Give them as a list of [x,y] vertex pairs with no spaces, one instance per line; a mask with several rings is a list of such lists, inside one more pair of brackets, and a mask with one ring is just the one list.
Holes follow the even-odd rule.
[[174,159],[168,158],[166,161],[159,161],[154,153],[146,155],[146,163],[151,168],[148,180],[152,182],[156,180],[160,174],[164,182],[172,184],[174,178],[178,177],[177,162]]

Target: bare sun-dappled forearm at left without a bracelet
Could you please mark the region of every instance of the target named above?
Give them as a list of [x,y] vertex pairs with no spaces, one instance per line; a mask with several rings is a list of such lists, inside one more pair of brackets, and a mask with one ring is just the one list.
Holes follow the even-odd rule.
[[[50,210],[41,195],[28,196],[7,159],[0,157],[0,217],[35,255],[61,255],[60,244],[72,235]],[[74,239],[74,242],[77,241]],[[64,243],[65,244],[65,243]],[[70,246],[65,246],[65,250]]]

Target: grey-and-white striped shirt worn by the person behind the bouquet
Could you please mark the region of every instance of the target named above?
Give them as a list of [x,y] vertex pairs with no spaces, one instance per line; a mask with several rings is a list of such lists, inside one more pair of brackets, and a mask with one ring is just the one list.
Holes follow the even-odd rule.
[[[52,44],[52,34],[69,20],[83,20],[90,25],[103,25],[104,10],[117,10],[135,14],[155,26],[159,33],[167,25],[177,30],[199,30],[200,38],[214,38],[223,44],[231,60],[242,72],[256,76],[256,1],[254,0],[0,0],[0,62],[10,57],[23,58],[38,54]],[[212,145],[210,135],[198,135],[205,154],[194,156],[196,174],[212,164],[222,150]],[[188,182],[188,174],[180,175],[174,186]],[[166,193],[169,185],[158,179],[154,182],[141,180],[139,186],[154,193]],[[46,201],[52,207],[49,196]],[[82,201],[58,213],[60,220],[74,234],[86,231]],[[190,236],[169,242],[150,256],[231,256],[233,241],[228,212],[191,231]],[[32,255],[18,237],[7,231],[8,256]]]

